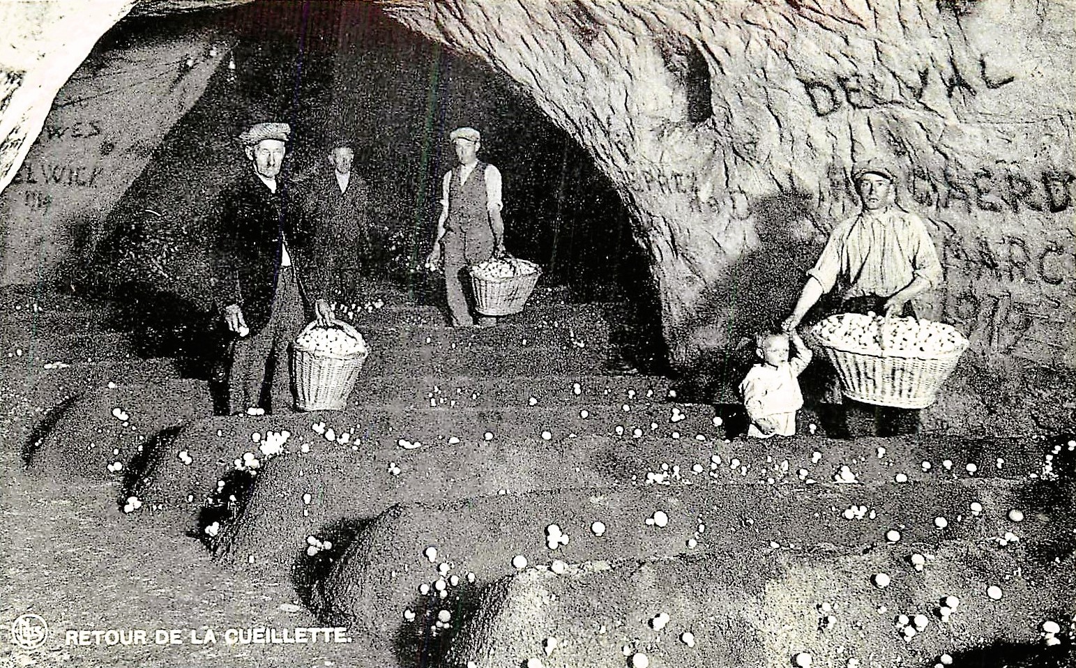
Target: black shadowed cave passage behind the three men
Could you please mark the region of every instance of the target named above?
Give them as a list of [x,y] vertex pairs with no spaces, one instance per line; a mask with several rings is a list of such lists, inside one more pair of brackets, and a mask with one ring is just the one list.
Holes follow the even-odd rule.
[[[201,12],[183,25],[231,35],[236,68],[215,72],[168,132],[97,234],[104,241],[86,268],[99,290],[133,296],[124,301],[132,318],[164,312],[169,322],[152,328],[159,331],[147,335],[146,354],[203,347],[212,203],[249,169],[236,134],[279,119],[293,128],[284,171],[300,186],[327,167],[326,140],[354,141],[354,170],[371,194],[368,279],[391,281],[426,303],[442,299],[422,262],[441,176],[455,162],[448,132],[478,128],[480,159],[504,175],[509,252],[541,264],[543,284],[566,288],[572,300],[627,302],[633,317],[617,338],[623,355],[640,369],[664,364],[656,292],[623,203],[513,82],[409,32],[371,3],[255,2]],[[125,20],[102,44],[160,29],[150,19]],[[202,366],[192,373],[203,375]]]

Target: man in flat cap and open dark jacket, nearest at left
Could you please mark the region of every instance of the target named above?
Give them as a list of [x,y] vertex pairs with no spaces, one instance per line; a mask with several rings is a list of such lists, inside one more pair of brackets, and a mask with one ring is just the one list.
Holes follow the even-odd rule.
[[259,123],[239,136],[250,167],[221,191],[216,302],[231,335],[228,409],[283,412],[294,394],[289,346],[312,312],[332,319],[322,240],[280,177],[291,128]]

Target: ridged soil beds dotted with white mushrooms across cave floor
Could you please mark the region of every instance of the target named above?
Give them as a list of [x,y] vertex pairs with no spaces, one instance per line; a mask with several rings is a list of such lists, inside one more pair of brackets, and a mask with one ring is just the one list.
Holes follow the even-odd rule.
[[285,583],[348,627],[341,663],[1076,665],[1071,436],[850,441],[804,411],[802,436],[746,440],[668,379],[605,372],[607,311],[495,336],[356,307],[377,355],[346,410],[227,417],[85,317],[68,366],[27,373],[47,410],[24,463]]

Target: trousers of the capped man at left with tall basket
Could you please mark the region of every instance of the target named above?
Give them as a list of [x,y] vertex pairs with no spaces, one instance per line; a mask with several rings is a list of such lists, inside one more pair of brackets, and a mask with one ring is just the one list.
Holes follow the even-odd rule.
[[269,323],[260,331],[237,338],[232,344],[228,373],[231,414],[244,413],[249,408],[261,408],[266,413],[293,409],[291,347],[306,324],[295,270],[281,268]]

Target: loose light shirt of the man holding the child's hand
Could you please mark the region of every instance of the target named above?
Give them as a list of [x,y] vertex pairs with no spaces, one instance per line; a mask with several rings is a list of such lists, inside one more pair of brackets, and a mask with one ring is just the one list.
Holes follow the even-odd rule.
[[843,300],[865,295],[892,297],[914,279],[942,283],[942,262],[922,218],[891,207],[863,211],[833,229],[818,262],[807,272]]

